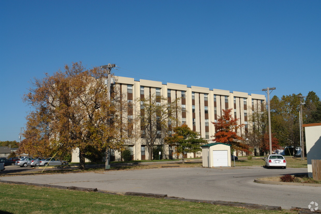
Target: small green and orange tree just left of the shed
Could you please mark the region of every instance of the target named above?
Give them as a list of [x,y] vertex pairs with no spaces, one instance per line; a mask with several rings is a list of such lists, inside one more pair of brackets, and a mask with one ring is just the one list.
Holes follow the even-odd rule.
[[165,143],[174,146],[178,154],[182,154],[184,163],[184,154],[197,153],[201,151],[201,145],[207,143],[204,138],[199,138],[198,132],[192,131],[186,124],[173,128],[174,134],[165,137]]

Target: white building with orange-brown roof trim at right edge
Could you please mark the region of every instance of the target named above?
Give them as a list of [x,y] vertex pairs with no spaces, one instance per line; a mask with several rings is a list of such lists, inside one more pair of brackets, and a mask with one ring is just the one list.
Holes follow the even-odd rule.
[[321,160],[321,123],[303,124],[303,127],[307,145],[308,175],[312,177],[312,160]]

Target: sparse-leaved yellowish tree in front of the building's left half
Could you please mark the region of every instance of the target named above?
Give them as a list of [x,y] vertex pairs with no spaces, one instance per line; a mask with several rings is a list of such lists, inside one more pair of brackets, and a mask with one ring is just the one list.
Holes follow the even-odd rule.
[[152,150],[157,139],[164,140],[171,131],[171,124],[179,124],[178,116],[182,108],[178,101],[179,98],[168,102],[167,98],[155,94],[150,98],[136,99],[136,103],[140,103],[137,120],[140,121],[140,134],[146,143],[149,160],[152,160]]

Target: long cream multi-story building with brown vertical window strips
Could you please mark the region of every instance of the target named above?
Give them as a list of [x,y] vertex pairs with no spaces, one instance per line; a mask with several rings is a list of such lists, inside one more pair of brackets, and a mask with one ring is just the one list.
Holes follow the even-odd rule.
[[[239,124],[245,126],[239,130],[239,134],[248,132],[252,128],[252,124],[248,124],[248,115],[253,109],[263,108],[265,96],[260,94],[247,94],[244,92],[228,90],[219,90],[204,87],[167,83],[160,81],[140,80],[135,81],[134,78],[116,77],[117,87],[122,92],[127,91],[127,101],[135,102],[137,98],[149,98],[152,95],[167,97],[168,101],[181,98],[179,105],[182,107],[182,114],[179,114],[179,120],[182,124],[187,124],[193,131],[199,132],[201,137],[212,142],[215,133],[215,127],[212,122],[216,122],[221,116],[222,109],[233,108],[234,116],[239,118]],[[133,112],[129,113],[129,117],[135,117],[139,112],[140,104],[134,105]],[[133,115],[133,116],[130,116]],[[140,132],[139,124],[134,125],[134,132]],[[175,155],[175,148],[164,145],[163,138],[157,139],[155,145],[162,145],[164,154],[163,158],[178,158]],[[144,139],[137,138],[128,142],[128,149],[132,152],[134,160],[148,159],[148,150]],[[173,152],[174,151],[174,152]],[[174,155],[173,155],[174,154]],[[77,153],[73,154],[73,161],[77,161]],[[201,154],[186,154],[186,158],[200,157]],[[120,151],[111,152],[111,161],[121,160]]]

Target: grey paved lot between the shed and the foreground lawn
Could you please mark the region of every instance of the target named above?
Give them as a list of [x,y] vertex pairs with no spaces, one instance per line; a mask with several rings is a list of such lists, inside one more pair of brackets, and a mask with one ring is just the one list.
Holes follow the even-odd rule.
[[282,209],[307,208],[321,204],[321,187],[257,184],[258,177],[306,173],[307,169],[265,169],[263,167],[160,168],[118,170],[102,173],[24,175],[1,180],[98,188],[113,192],[160,193],[200,200],[238,201]]

